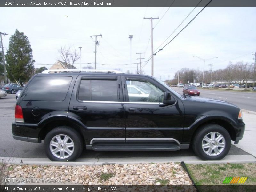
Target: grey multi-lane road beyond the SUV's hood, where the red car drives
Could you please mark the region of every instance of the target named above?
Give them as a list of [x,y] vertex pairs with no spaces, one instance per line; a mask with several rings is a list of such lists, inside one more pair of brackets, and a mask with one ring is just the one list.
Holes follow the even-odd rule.
[[[174,91],[182,94],[183,88],[171,87]],[[195,96],[197,97],[197,96]],[[255,92],[238,92],[223,91],[212,89],[200,89],[200,96],[211,99],[228,101],[235,104],[241,109],[256,111],[256,91]]]

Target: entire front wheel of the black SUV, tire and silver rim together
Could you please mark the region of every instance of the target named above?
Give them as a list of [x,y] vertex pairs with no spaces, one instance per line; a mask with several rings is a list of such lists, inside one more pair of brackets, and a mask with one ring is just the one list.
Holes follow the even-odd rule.
[[[219,140],[219,142],[216,142],[214,140],[212,141],[213,137],[217,137],[217,140],[219,136],[222,136],[223,139]],[[206,137],[209,141],[209,147],[206,147],[208,146],[206,142]],[[203,145],[205,145],[204,149]],[[228,154],[230,147],[231,138],[228,131],[217,124],[207,124],[199,128],[193,138],[192,143],[192,148],[194,152],[203,160],[220,160]]]

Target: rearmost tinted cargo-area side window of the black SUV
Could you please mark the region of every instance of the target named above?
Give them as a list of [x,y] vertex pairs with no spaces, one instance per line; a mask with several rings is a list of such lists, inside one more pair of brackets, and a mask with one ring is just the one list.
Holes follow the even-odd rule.
[[20,100],[63,101],[71,81],[72,77],[36,76],[28,84]]

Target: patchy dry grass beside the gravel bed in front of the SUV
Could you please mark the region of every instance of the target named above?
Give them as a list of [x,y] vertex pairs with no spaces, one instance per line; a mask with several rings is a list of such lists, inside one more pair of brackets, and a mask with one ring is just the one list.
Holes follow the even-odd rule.
[[[256,163],[247,164],[186,164],[197,186],[256,185]],[[244,184],[223,184],[226,177],[248,177]]]

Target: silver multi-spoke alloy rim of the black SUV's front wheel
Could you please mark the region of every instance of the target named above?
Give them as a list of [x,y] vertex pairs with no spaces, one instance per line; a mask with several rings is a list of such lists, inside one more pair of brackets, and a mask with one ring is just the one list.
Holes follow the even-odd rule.
[[223,135],[218,132],[210,132],[204,136],[202,148],[209,156],[219,155],[225,148],[226,141]]

